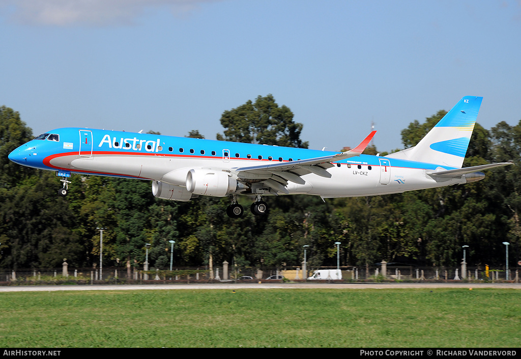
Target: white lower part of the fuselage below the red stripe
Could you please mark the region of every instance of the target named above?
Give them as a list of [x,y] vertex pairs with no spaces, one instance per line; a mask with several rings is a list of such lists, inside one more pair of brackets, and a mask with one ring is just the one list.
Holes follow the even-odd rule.
[[[188,171],[204,168],[233,173],[233,168],[255,165],[257,160],[232,158],[187,158],[147,153],[140,155],[63,154],[49,161],[53,167],[71,172],[152,179],[173,185],[184,186]],[[442,187],[466,183],[464,177],[433,179],[424,169],[391,167],[382,165],[358,165],[342,163],[327,169],[331,178],[314,173],[302,175],[305,184],[288,181],[289,194],[317,195],[328,197],[357,197],[402,193],[408,190]],[[172,173],[172,171],[175,171]],[[170,174],[170,175],[168,175]],[[244,192],[238,192],[238,194]],[[282,193],[279,193],[282,194]]]

